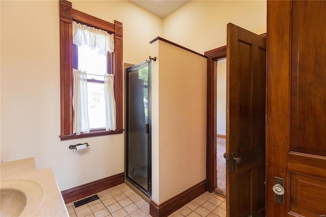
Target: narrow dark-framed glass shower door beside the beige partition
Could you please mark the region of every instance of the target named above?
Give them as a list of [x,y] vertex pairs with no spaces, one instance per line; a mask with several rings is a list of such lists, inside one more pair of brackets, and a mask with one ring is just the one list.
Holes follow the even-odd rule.
[[126,178],[150,196],[150,65],[144,62],[127,68],[126,73]]

